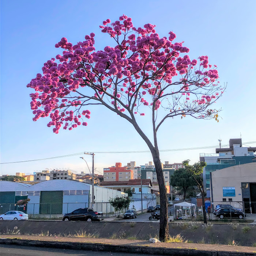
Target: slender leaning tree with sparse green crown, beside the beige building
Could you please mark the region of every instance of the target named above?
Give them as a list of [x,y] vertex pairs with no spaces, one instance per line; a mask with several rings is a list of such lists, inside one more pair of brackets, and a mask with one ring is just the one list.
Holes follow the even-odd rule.
[[192,174],[194,180],[196,181],[201,195],[202,195],[202,203],[203,203],[203,216],[204,216],[204,223],[207,224],[207,218],[206,218],[206,208],[204,204],[204,183],[203,183],[203,169],[207,165],[206,162],[197,162],[193,165],[189,165],[190,160],[183,161],[183,165],[185,166],[186,170]]

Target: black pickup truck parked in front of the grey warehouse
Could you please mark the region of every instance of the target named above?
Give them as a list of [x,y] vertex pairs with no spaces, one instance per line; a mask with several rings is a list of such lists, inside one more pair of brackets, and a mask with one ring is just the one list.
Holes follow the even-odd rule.
[[79,208],[63,215],[63,221],[103,221],[103,213],[93,208]]

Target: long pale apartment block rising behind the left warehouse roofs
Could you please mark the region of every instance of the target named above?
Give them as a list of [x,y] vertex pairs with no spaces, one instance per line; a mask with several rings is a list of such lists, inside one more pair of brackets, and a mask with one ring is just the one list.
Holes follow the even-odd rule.
[[[44,176],[49,176],[49,180],[75,180],[76,174],[70,170],[44,170],[36,174],[36,180],[45,180]],[[47,179],[46,179],[47,180]]]

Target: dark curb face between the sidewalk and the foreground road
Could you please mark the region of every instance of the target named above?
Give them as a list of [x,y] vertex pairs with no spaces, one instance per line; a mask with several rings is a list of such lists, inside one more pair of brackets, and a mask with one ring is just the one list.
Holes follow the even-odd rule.
[[249,252],[228,252],[228,251],[202,251],[197,249],[180,249],[149,247],[141,245],[111,245],[100,243],[81,243],[81,242],[57,242],[57,241],[38,241],[25,239],[0,238],[0,244],[36,246],[47,248],[61,248],[73,250],[91,250],[91,251],[110,251],[110,252],[129,252],[142,253],[150,255],[176,255],[176,256],[252,256],[256,253]]

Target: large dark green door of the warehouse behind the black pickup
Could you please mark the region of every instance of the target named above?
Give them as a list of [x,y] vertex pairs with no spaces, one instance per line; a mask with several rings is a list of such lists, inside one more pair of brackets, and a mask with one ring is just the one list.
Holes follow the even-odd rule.
[[40,214],[62,214],[63,191],[41,191]]

